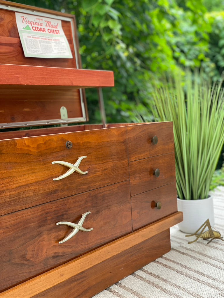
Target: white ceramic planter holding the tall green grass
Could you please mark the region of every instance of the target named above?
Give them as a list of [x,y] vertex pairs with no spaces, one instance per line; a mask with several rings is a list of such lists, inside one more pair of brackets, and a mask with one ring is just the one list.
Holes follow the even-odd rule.
[[214,227],[214,208],[211,196],[203,200],[177,198],[177,209],[183,212],[183,221],[178,224],[178,227],[184,233],[193,234],[207,219]]

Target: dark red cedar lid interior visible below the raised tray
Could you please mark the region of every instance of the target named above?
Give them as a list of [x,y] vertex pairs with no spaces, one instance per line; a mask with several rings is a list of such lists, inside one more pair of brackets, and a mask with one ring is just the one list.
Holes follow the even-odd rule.
[[[73,87],[2,85],[0,100],[0,127],[1,123],[61,119],[62,106],[68,118],[83,117],[80,92]],[[86,116],[88,120],[88,113]]]

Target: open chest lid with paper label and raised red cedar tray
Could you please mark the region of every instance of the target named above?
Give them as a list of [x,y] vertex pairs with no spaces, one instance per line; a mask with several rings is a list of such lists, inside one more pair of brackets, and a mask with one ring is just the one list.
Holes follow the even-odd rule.
[[85,88],[113,72],[81,68],[74,15],[0,0],[0,128],[88,121]]

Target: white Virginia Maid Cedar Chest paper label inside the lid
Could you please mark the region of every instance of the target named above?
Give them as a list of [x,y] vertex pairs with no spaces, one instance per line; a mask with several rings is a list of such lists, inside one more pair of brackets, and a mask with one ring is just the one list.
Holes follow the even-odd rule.
[[73,58],[61,20],[15,14],[25,57]]

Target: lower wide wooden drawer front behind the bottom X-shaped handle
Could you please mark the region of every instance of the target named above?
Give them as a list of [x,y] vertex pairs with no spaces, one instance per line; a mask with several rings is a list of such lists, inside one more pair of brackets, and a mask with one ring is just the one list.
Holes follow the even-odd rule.
[[[59,244],[90,211],[73,238]],[[0,291],[132,232],[129,181],[0,217]],[[4,227],[4,228],[3,228]]]

